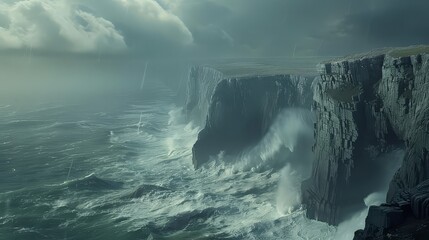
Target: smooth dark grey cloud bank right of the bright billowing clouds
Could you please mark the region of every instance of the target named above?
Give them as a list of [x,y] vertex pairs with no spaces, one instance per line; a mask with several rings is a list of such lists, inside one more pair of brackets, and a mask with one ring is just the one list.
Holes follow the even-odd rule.
[[[165,0],[166,1],[166,0]],[[341,55],[429,42],[425,0],[182,0],[173,8],[194,35],[221,29],[233,40],[198,40],[216,53]],[[224,46],[224,47],[221,47]]]

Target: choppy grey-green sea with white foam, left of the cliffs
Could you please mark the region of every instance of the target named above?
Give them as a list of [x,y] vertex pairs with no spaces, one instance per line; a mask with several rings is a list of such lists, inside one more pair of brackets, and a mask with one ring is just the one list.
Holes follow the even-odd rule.
[[0,106],[0,239],[335,238],[304,209],[279,212],[280,169],[195,171],[199,126],[174,91],[144,90],[108,108]]

